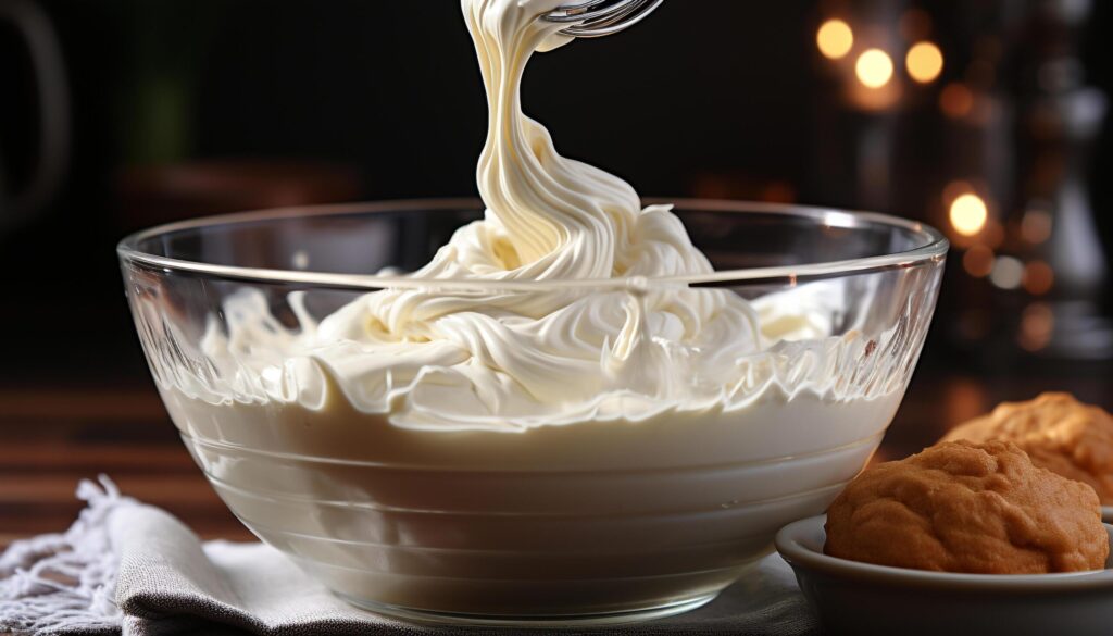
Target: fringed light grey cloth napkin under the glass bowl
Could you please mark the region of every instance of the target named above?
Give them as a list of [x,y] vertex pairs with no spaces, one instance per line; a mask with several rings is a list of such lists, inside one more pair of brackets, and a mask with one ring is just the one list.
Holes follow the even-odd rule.
[[[73,526],[0,555],[0,633],[80,636],[536,634],[427,627],[352,607],[263,544],[201,542],[165,511],[83,481]],[[673,618],[573,634],[818,634],[777,555],[711,604]]]

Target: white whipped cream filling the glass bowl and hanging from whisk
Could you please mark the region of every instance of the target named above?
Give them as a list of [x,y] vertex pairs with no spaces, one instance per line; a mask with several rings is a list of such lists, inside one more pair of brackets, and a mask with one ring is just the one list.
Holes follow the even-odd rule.
[[706,603],[861,469],[915,362],[917,306],[863,309],[906,276],[752,302],[677,282],[712,267],[671,209],[561,157],[522,112],[530,56],[565,41],[538,16],[563,1],[462,1],[490,104],[486,212],[408,280],[319,322],[292,294],[297,329],[245,290],[203,355],[156,301],[134,304],[221,499],[378,611]]

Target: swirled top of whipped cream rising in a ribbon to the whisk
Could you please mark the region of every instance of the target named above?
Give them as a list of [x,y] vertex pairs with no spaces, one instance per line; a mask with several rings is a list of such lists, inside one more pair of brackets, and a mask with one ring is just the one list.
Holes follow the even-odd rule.
[[584,286],[384,290],[319,324],[295,297],[302,325],[293,331],[247,290],[227,300],[226,327],[214,319],[203,342],[219,375],[233,379],[235,399],[309,408],[344,399],[402,427],[521,431],[736,408],[769,385],[821,393],[824,378],[835,376],[824,361],[865,348],[855,335],[826,337],[826,319],[805,310],[784,316],[767,305],[759,315],[729,291],[591,287],[712,267],[669,206],[642,208],[629,184],[562,157],[523,114],[530,57],[567,41],[561,25],[539,19],[560,3],[462,0],[490,107],[476,170],[486,212],[412,277]]

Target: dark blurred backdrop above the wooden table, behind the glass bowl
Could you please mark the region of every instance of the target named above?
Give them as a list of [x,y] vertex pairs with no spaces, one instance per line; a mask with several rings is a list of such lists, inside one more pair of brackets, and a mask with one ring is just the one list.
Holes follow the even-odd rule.
[[[978,33],[1012,42],[1016,28],[1003,16],[1021,4],[925,4],[932,39],[948,56],[936,84],[963,77],[962,60]],[[475,193],[486,107],[453,0],[42,6],[60,33],[70,81],[72,158],[49,205],[0,231],[3,382],[144,378],[114,245],[166,215],[129,200],[128,170],[137,166],[269,158],[354,174],[342,179],[341,198]],[[672,0],[621,37],[538,56],[523,87],[525,107],[550,127],[562,154],[614,172],[643,195],[789,198],[942,224],[938,190],[962,149],[947,145],[954,134],[935,108],[938,87],[912,87],[897,112],[848,111],[814,43],[830,14],[849,11],[884,23],[915,7]],[[1076,38],[1086,81],[1106,92],[1113,56],[1102,33],[1113,27],[1111,13],[1110,3],[1093,2]],[[1006,46],[1023,52],[1040,45]],[[899,74],[899,59],[897,66]],[[998,90],[1023,95],[1023,70],[1001,66]],[[24,53],[3,27],[0,77],[0,167],[14,188],[33,158],[37,107]],[[175,101],[164,95],[174,90],[159,92],[160,84],[183,87],[175,90],[187,97]],[[855,163],[854,136],[870,118],[887,121],[896,148],[892,179],[899,186],[888,196],[865,196],[847,167]],[[1109,137],[1105,127],[1086,167],[1106,253]],[[191,215],[229,207],[235,203],[205,202]],[[934,337],[925,362],[997,368],[965,359],[968,350],[971,343]]]

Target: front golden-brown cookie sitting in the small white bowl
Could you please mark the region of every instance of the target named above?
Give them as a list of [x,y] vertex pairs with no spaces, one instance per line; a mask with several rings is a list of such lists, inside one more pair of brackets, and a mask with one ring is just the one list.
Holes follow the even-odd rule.
[[1094,490],[1008,442],[946,442],[867,469],[827,512],[833,557],[981,574],[1104,567]]

